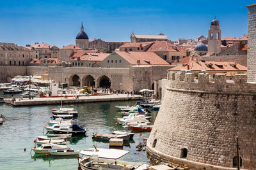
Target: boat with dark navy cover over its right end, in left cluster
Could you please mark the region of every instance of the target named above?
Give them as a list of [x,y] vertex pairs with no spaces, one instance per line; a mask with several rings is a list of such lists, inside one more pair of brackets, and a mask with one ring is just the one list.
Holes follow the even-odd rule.
[[79,134],[86,134],[86,129],[77,125],[76,123],[73,123],[71,127],[52,129],[52,132],[54,132],[54,134],[70,134],[71,133],[72,136],[76,136]]

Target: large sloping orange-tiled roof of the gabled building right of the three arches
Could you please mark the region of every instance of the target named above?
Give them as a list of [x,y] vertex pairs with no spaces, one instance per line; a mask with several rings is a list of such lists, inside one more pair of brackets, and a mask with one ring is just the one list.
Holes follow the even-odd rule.
[[166,60],[162,59],[154,52],[115,52],[123,57],[131,65],[170,65]]

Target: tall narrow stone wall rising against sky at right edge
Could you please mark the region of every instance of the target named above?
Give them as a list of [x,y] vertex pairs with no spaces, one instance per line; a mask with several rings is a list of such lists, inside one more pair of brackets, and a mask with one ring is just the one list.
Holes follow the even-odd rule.
[[248,81],[256,80],[256,6],[248,6]]

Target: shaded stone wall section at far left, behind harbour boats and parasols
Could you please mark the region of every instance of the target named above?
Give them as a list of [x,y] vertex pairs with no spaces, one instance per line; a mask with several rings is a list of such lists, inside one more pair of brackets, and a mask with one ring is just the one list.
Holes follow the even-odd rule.
[[26,74],[26,66],[0,66],[0,83],[9,83],[8,77]]

